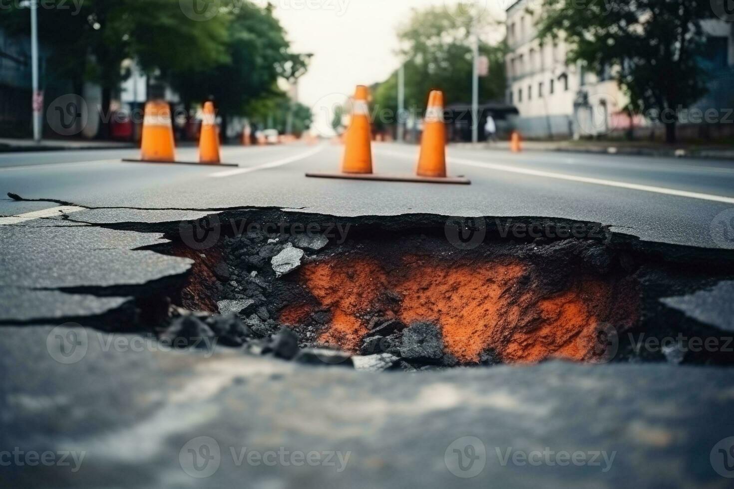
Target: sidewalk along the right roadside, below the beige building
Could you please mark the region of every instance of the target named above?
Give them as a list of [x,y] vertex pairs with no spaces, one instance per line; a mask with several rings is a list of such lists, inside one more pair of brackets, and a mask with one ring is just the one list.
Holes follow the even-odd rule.
[[[509,141],[487,143],[452,143],[452,147],[479,147],[485,150],[509,151]],[[715,158],[734,160],[734,147],[679,144],[669,147],[647,141],[523,141],[526,151],[567,151],[606,153],[609,155],[662,156],[667,158]]]

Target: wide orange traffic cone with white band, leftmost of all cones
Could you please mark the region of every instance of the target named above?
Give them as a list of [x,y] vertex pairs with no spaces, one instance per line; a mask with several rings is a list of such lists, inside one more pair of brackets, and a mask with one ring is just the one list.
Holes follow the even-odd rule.
[[153,100],[145,104],[140,159],[175,161],[171,109],[163,100]]

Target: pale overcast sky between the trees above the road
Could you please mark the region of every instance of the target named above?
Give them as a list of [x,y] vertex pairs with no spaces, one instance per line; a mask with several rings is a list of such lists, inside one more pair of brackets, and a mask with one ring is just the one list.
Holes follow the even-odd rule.
[[[382,81],[399,66],[396,28],[413,8],[457,4],[459,0],[270,0],[294,51],[313,53],[299,82],[308,106],[351,94],[358,84]],[[487,5],[495,18],[507,0],[470,0]],[[308,8],[308,7],[312,8]],[[316,7],[316,8],[313,8]],[[339,95],[343,98],[343,95]],[[315,112],[319,110],[316,109]],[[317,115],[318,117],[318,115]]]

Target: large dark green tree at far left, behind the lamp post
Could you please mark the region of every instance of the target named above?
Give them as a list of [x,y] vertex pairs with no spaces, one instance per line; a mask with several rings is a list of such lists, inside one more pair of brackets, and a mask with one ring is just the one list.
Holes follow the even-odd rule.
[[[209,21],[186,17],[178,0],[44,0],[38,9],[39,38],[51,49],[48,77],[66,78],[81,92],[84,81],[102,87],[102,120],[112,92],[129,73],[126,59],[137,59],[145,73],[206,70],[227,61],[226,10]],[[14,4],[17,6],[17,4]],[[29,35],[27,9],[0,12],[0,27]],[[101,136],[106,136],[103,123]]]

